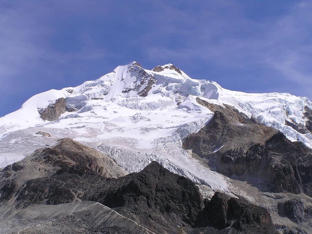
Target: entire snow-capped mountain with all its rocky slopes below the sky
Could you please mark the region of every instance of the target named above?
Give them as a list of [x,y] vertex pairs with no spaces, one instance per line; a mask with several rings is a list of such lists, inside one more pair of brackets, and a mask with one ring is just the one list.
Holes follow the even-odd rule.
[[1,233],[311,233],[312,103],[118,66],[0,118]]

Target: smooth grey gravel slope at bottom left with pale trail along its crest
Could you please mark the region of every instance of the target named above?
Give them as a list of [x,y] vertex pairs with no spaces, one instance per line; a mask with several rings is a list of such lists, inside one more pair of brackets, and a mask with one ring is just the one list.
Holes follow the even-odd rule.
[[[25,209],[0,207],[1,233],[20,234],[153,234],[97,202],[81,201],[59,205],[31,205]],[[8,213],[10,218],[8,218]]]

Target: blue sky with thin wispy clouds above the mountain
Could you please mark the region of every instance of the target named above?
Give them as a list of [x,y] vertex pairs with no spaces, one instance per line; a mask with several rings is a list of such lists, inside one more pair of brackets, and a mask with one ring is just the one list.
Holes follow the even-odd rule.
[[312,99],[312,1],[0,0],[0,116],[138,61]]

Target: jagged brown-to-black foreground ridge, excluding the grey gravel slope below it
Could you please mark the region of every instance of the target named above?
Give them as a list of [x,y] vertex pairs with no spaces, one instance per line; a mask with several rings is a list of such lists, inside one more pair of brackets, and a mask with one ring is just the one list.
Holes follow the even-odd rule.
[[124,172],[112,159],[71,139],[61,139],[56,146],[14,164],[0,172],[0,204],[13,202],[18,210],[31,204],[95,201],[155,233],[197,227],[276,232],[261,207],[222,193],[204,200],[192,181],[157,162],[120,177]]

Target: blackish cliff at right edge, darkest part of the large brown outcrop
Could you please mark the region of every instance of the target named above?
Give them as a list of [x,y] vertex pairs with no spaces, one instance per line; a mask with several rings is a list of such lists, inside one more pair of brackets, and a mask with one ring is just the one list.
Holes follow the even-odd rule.
[[290,142],[278,133],[266,141],[261,157],[270,162],[270,187],[273,192],[304,192],[312,197],[312,150],[301,142]]

